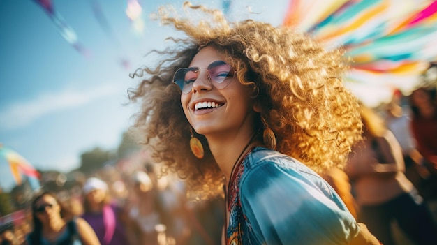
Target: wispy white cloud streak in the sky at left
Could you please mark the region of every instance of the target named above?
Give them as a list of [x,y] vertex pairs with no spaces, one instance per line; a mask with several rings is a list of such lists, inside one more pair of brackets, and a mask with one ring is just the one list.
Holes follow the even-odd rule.
[[66,89],[52,94],[43,94],[33,101],[13,103],[0,113],[0,130],[12,130],[31,124],[36,119],[68,108],[85,105],[98,98],[119,91],[114,84],[105,84],[94,89]]

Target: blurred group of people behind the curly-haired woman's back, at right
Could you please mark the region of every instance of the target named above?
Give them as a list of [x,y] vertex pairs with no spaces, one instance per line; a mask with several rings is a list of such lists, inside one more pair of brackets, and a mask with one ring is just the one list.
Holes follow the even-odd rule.
[[[344,170],[325,179],[357,221],[380,242],[437,242],[437,100],[435,87],[361,107],[363,140]],[[431,242],[430,241],[434,241]]]

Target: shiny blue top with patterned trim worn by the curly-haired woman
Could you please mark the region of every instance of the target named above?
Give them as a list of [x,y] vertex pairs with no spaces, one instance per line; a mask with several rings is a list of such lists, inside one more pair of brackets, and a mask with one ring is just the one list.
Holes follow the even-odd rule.
[[227,244],[349,244],[360,230],[322,177],[278,151],[253,149],[229,190]]

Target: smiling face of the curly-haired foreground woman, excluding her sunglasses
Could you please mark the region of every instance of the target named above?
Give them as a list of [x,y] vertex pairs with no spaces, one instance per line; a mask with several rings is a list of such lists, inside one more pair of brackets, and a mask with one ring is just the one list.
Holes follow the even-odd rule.
[[214,47],[202,48],[190,64],[199,68],[197,79],[191,91],[181,96],[186,118],[197,133],[205,136],[237,132],[242,126],[253,127],[253,117],[248,117],[254,114],[249,87],[241,84],[236,74],[229,77],[232,81],[223,89],[217,89],[208,80],[209,64],[223,59]]

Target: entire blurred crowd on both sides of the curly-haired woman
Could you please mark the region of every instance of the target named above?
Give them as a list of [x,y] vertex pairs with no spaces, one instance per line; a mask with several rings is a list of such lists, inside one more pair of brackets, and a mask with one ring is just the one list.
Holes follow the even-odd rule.
[[[346,169],[324,177],[383,244],[425,244],[437,235],[436,88],[396,91],[361,115],[363,140]],[[1,214],[0,244],[221,244],[223,198],[190,200],[184,181],[152,163],[124,167],[69,186],[57,178],[57,188],[43,183],[31,198],[15,193],[23,201]]]

